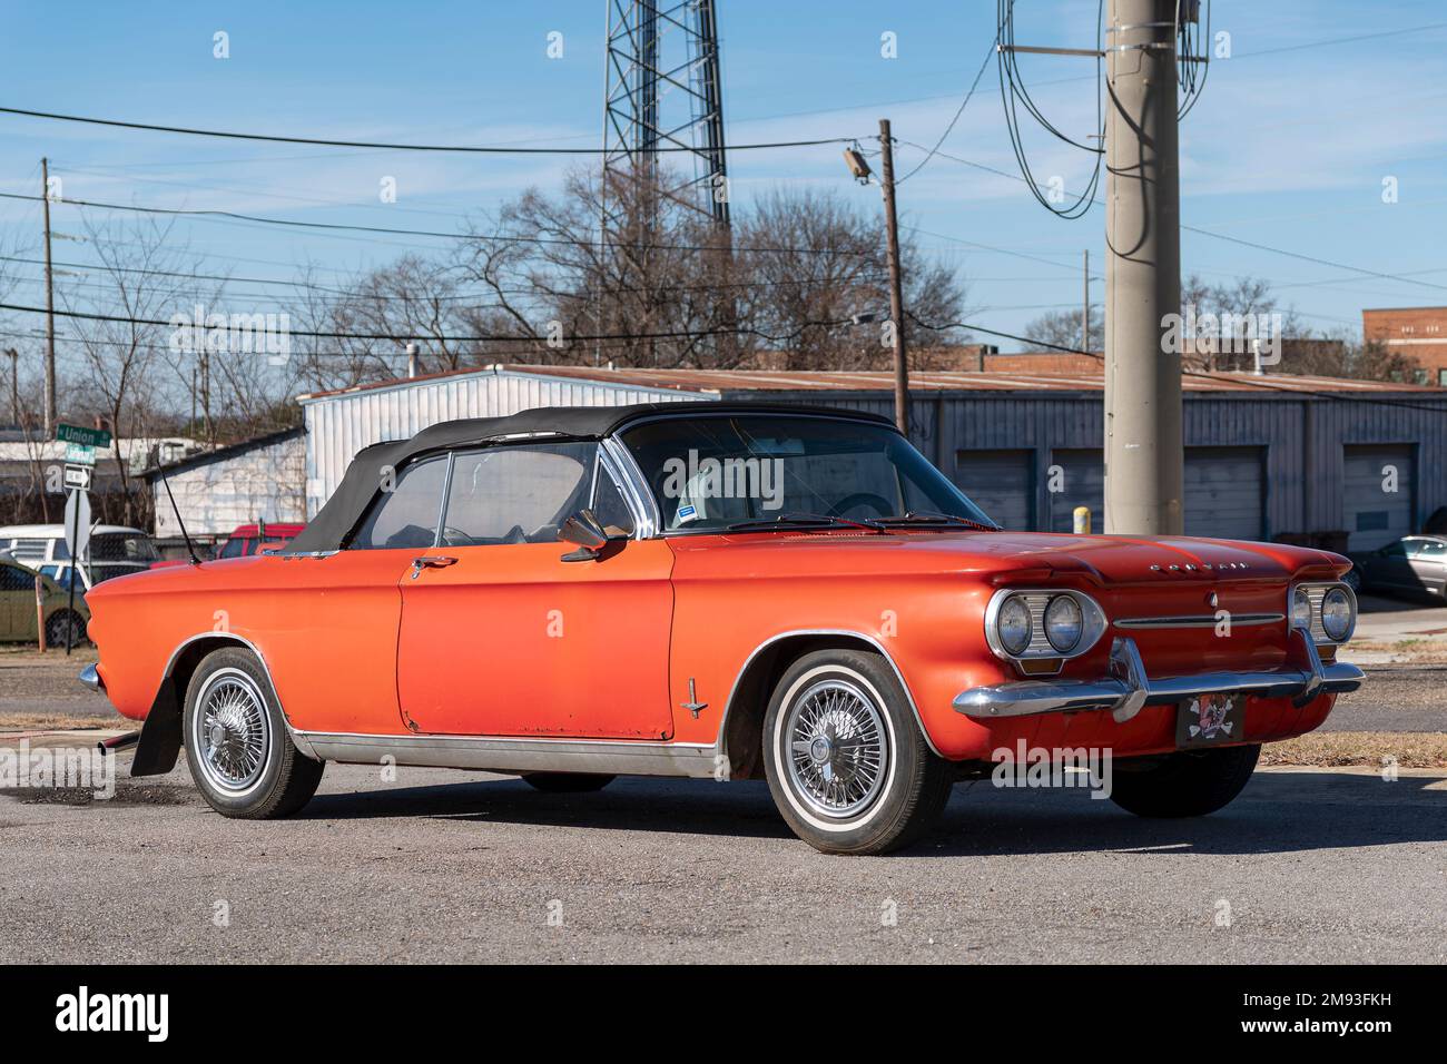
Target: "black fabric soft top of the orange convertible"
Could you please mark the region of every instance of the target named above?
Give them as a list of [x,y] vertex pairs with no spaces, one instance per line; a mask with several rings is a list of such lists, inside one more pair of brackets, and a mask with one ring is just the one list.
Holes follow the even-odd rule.
[[362,521],[372,499],[381,489],[383,470],[401,470],[423,455],[457,447],[496,443],[499,439],[522,434],[556,434],[573,440],[601,440],[629,421],[669,414],[697,417],[718,414],[813,414],[848,417],[871,424],[893,427],[893,421],[878,414],[838,407],[806,407],[778,402],[645,402],[632,407],[537,407],[508,417],[472,417],[428,426],[410,440],[389,440],[363,447],[347,466],[336,494],[327,499],[311,523],[287,544],[284,554],[340,550],[347,534]]

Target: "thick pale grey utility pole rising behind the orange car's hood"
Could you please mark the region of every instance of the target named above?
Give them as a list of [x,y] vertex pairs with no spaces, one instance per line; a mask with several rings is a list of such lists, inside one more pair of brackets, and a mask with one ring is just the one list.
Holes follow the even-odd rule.
[[1107,6],[1107,533],[1184,528],[1181,352],[1162,350],[1166,318],[1181,313],[1178,3]]

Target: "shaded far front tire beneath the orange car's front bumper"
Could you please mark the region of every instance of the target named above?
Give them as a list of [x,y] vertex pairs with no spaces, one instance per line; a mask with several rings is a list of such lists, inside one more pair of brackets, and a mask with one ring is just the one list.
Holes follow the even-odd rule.
[[1260,751],[1259,746],[1184,750],[1140,770],[1117,763],[1110,798],[1137,816],[1205,816],[1242,793]]

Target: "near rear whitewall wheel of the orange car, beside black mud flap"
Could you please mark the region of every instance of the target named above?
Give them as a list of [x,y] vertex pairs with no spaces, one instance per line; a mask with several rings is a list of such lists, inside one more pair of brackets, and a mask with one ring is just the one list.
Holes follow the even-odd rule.
[[182,712],[191,777],[223,816],[289,816],[317,792],[324,763],[291,741],[276,692],[252,651],[207,654],[187,685]]

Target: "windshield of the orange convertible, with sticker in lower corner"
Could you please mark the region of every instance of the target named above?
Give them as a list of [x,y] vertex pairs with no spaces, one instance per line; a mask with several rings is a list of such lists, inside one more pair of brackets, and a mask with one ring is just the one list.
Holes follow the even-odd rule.
[[664,531],[783,525],[996,528],[886,426],[787,414],[702,414],[621,434]]

